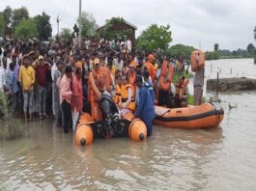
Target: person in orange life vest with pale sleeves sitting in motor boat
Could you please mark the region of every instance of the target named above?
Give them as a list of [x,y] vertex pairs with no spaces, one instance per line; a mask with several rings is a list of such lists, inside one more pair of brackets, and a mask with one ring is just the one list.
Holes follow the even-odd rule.
[[122,76],[121,100],[118,104],[121,117],[135,110],[135,92],[131,84],[128,83],[128,76]]

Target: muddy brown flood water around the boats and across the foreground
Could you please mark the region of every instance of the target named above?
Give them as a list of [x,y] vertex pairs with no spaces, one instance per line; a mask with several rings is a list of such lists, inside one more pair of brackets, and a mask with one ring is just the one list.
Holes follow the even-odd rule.
[[[220,60],[208,62],[207,77],[212,64],[256,73],[251,59]],[[0,190],[255,190],[255,95],[219,94],[225,118],[217,128],[154,126],[143,143],[95,140],[77,149],[50,119],[24,123],[24,138],[0,141]]]

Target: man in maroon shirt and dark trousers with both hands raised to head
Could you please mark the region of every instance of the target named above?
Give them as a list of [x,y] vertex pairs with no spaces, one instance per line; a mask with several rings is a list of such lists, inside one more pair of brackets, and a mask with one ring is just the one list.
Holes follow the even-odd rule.
[[39,56],[39,61],[33,63],[33,67],[36,69],[36,78],[38,84],[38,109],[39,116],[42,120],[46,117],[46,72],[51,69],[51,65],[44,62],[43,56]]

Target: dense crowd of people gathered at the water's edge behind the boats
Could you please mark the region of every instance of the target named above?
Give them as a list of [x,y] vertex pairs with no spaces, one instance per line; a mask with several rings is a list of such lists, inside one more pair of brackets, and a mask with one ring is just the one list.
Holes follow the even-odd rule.
[[[102,120],[100,96],[110,95],[120,118],[132,112],[146,123],[152,134],[154,104],[169,108],[185,107],[188,79],[181,74],[172,83],[178,64],[157,52],[133,52],[131,41],[1,41],[0,91],[10,100],[13,115],[25,121],[54,116],[67,133],[75,129],[82,112]],[[202,71],[203,72],[203,71]],[[196,104],[200,104],[202,72],[194,80]]]

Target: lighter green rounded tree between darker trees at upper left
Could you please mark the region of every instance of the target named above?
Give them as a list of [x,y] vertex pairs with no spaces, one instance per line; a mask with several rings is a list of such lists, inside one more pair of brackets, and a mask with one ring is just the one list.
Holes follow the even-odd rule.
[[35,23],[34,19],[27,19],[22,20],[15,28],[14,32],[15,38],[20,39],[31,39],[31,38],[38,38],[39,32],[37,29],[37,24]]

